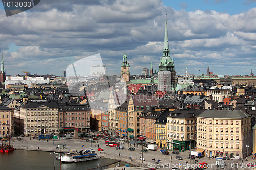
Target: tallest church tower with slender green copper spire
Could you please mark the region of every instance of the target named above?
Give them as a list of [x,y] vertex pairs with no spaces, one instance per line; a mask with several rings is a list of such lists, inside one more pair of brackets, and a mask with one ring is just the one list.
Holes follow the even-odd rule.
[[159,62],[158,90],[166,92],[173,91],[176,87],[175,76],[174,61],[170,58],[166,13],[163,56],[162,59],[160,58]]

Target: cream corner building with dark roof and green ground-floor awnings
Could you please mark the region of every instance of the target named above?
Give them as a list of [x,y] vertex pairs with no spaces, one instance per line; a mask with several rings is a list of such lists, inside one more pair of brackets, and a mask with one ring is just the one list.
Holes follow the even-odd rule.
[[168,149],[186,151],[196,147],[196,116],[204,110],[176,109],[167,116]]

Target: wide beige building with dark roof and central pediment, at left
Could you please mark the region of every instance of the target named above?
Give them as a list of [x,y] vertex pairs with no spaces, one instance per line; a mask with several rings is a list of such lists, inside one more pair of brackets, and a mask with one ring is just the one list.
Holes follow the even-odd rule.
[[59,112],[56,102],[35,103],[29,102],[15,110],[15,122],[21,122],[20,133],[25,136],[59,133]]

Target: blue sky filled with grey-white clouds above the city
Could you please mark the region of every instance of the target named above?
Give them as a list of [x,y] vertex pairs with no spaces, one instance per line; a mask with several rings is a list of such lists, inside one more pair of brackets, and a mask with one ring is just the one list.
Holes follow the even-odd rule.
[[[61,3],[60,3],[61,2]],[[0,48],[6,73],[63,75],[73,62],[100,53],[108,74],[158,71],[165,11],[178,75],[256,73],[256,0],[42,0],[6,17],[0,7]],[[200,70],[200,72],[199,72]]]

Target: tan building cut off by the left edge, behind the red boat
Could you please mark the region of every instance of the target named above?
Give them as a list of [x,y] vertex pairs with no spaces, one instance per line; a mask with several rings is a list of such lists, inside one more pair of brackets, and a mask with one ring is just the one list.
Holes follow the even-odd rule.
[[0,136],[14,134],[14,113],[13,109],[0,106]]

